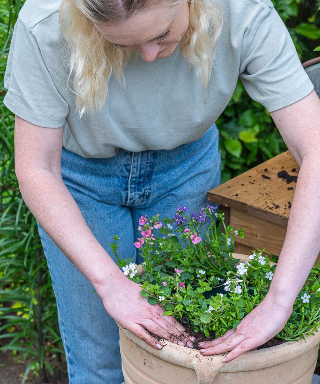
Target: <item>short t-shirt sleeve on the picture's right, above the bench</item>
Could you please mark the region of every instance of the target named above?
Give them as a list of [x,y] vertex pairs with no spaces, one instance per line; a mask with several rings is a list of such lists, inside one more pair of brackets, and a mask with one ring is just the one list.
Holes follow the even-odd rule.
[[[266,9],[267,5],[263,6]],[[240,79],[249,96],[269,112],[293,104],[313,90],[287,27],[273,5],[269,5],[269,12],[253,34],[248,31],[244,35],[241,51]]]

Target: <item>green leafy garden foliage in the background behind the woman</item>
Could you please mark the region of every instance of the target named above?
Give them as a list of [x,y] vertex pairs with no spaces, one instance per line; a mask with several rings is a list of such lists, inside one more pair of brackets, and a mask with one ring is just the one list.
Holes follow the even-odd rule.
[[[320,0],[273,3],[300,60],[317,57]],[[28,374],[41,376],[45,382],[46,375],[53,374],[52,358],[59,365],[64,351],[36,221],[15,177],[14,116],[2,103],[10,39],[22,4],[20,0],[0,0],[0,350],[28,359],[22,382]],[[268,111],[248,96],[240,79],[217,126],[222,182],[287,149]]]

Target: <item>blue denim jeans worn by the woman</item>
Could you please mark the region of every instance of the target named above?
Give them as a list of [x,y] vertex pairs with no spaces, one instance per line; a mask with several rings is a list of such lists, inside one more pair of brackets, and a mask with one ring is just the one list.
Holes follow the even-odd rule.
[[[207,191],[220,184],[216,124],[201,139],[171,151],[128,152],[84,158],[65,148],[63,182],[91,232],[109,255],[113,235],[118,254],[141,262],[133,243],[141,215],[173,217],[180,204],[197,212]],[[189,213],[190,213],[189,212]],[[118,327],[85,276],[66,258],[38,223],[58,307],[69,384],[119,384],[123,381]],[[85,257],[86,255],[83,255]]]

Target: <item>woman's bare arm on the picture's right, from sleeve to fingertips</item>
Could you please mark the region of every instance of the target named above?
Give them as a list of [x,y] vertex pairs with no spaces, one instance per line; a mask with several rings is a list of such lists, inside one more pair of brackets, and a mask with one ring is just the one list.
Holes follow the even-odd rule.
[[320,251],[320,99],[313,90],[271,116],[300,166],[297,187],[269,292],[235,329],[199,344],[204,356],[230,351],[224,362],[256,349],[284,328]]

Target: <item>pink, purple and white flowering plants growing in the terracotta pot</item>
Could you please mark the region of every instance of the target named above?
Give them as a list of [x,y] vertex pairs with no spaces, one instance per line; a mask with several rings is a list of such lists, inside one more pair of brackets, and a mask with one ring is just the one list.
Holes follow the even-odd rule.
[[[224,214],[216,210],[207,205],[198,214],[188,215],[189,209],[180,205],[171,220],[161,221],[159,214],[141,216],[141,237],[134,243],[145,260],[141,276],[136,264],[118,257],[118,236],[111,244],[123,273],[141,284],[141,296],[148,298],[149,304],[159,303],[164,316],[188,323],[207,338],[213,334],[218,338],[240,324],[264,299],[276,268],[270,263],[270,254],[259,249],[249,261],[239,263],[230,247],[235,237],[244,238],[244,230],[226,226]],[[222,233],[217,219],[221,220]],[[319,327],[319,273],[320,264],[310,271],[277,338],[295,341]]]

